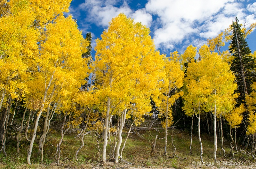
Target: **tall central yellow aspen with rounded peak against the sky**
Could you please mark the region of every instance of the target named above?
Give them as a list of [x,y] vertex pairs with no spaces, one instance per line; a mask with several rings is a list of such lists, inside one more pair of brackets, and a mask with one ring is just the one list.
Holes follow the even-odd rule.
[[[125,113],[136,84],[132,75],[138,71],[143,58],[152,55],[155,48],[149,36],[149,28],[141,23],[134,23],[131,18],[127,18],[122,13],[111,20],[108,30],[102,33],[101,38],[96,40],[95,66],[98,70],[97,78],[101,81],[98,93],[101,94],[101,100],[107,106],[104,112],[105,129],[102,148],[102,162],[105,163],[110,117],[114,112],[118,112],[117,110],[122,112],[124,110]],[[125,118],[124,114],[122,117]],[[116,154],[119,153],[116,152]]]

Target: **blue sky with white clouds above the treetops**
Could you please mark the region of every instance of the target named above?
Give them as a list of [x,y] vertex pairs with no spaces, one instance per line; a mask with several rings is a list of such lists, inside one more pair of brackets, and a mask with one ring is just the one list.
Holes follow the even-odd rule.
[[[113,17],[123,12],[148,26],[156,48],[169,56],[192,44],[207,43],[232,23],[237,15],[246,27],[256,22],[255,0],[73,0],[69,13],[79,29],[92,33],[92,47]],[[256,31],[248,37],[250,49],[256,50]],[[228,44],[223,49],[227,49]],[[95,52],[93,52],[94,55]]]

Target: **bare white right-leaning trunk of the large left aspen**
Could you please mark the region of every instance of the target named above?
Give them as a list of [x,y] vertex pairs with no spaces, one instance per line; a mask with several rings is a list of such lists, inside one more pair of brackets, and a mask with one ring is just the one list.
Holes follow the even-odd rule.
[[[47,87],[45,86],[45,92],[44,92],[44,98],[42,100],[42,105],[41,105],[39,113],[36,116],[33,136],[31,138],[30,145],[28,147],[28,156],[27,156],[27,163],[28,163],[28,165],[31,165],[30,157],[31,157],[32,149],[33,149],[33,144],[34,144],[34,141],[35,141],[35,138],[36,138],[36,130],[37,130],[37,127],[38,127],[38,122],[39,122],[40,116],[41,116],[41,114],[42,114],[42,112],[44,110],[44,103],[45,103],[45,100],[46,100],[48,89],[50,88],[50,85],[52,83],[52,79],[53,79],[53,75],[51,76],[51,78],[49,80],[48,86]],[[45,79],[45,81],[46,81],[46,79]]]

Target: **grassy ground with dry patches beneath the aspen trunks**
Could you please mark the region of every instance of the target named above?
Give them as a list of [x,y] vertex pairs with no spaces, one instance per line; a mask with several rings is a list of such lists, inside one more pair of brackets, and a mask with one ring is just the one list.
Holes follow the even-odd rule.
[[[162,130],[163,131],[163,130]],[[190,144],[190,133],[187,131],[174,130],[174,133],[178,133],[174,136],[174,145],[176,146],[176,154],[180,158],[187,158],[181,160],[177,157],[170,158],[172,156],[173,147],[171,144],[171,130],[168,135],[168,145],[167,145],[167,156],[164,156],[164,139],[157,140],[156,142],[156,153],[151,153],[151,140],[154,138],[152,136],[164,137],[164,133],[158,133],[152,130],[151,133],[148,131],[141,131],[141,135],[136,136],[131,134],[131,137],[127,140],[126,147],[123,152],[123,158],[132,163],[132,165],[126,165],[123,161],[120,161],[119,165],[114,165],[110,161],[111,157],[111,144],[113,142],[113,137],[110,138],[107,147],[107,159],[109,160],[107,164],[101,165],[100,159],[97,158],[96,141],[92,135],[86,135],[84,137],[84,147],[80,150],[78,154],[78,161],[75,160],[76,150],[80,146],[80,138],[74,138],[75,134],[68,134],[64,137],[61,144],[61,166],[58,167],[55,163],[54,154],[56,152],[56,145],[60,139],[60,135],[52,131],[49,136],[47,136],[44,149],[44,163],[41,164],[40,153],[37,152],[38,145],[35,142],[34,149],[32,151],[31,162],[33,165],[26,165],[26,156],[28,142],[23,141],[20,143],[20,154],[16,154],[15,143],[6,143],[6,152],[8,157],[4,157],[4,154],[0,154],[0,168],[131,168],[131,167],[148,167],[148,168],[209,168],[210,166],[197,165],[200,162],[200,145],[198,142],[198,137],[193,136],[192,143],[192,154],[189,154],[189,144]],[[150,136],[152,135],[152,136]],[[123,136],[125,138],[125,134]],[[202,135],[203,143],[203,159],[204,162],[213,162],[213,137],[206,134]],[[100,140],[100,146],[103,142]],[[217,160],[215,168],[249,168],[255,167],[255,161],[252,157],[247,157],[243,154],[235,154],[235,159],[231,159],[229,155],[224,158],[222,151],[220,149],[220,141],[217,143]],[[225,140],[224,148],[226,154],[229,153],[229,140]],[[232,165],[239,164],[243,162],[242,165]],[[193,164],[196,165],[193,165]],[[231,163],[231,165],[228,165]],[[220,164],[220,165],[219,165]],[[211,168],[211,167],[210,167]]]

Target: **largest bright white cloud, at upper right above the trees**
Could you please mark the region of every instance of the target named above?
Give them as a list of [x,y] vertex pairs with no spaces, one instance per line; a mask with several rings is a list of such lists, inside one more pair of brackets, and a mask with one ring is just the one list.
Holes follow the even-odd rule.
[[[254,11],[254,7],[256,3],[248,5],[247,11]],[[235,15],[241,21],[247,16],[244,4],[235,0],[149,0],[146,10],[159,17],[161,26],[154,29],[156,47],[169,49],[175,44],[187,45],[187,39],[191,43],[213,38],[232,23]],[[247,18],[253,22],[256,17]]]

